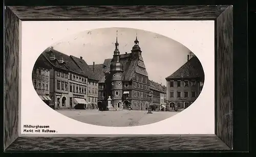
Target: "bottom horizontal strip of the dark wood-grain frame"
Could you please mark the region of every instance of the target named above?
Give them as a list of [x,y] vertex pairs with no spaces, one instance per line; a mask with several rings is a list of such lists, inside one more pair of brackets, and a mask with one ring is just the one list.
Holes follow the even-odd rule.
[[218,137],[19,137],[6,151],[229,150]]

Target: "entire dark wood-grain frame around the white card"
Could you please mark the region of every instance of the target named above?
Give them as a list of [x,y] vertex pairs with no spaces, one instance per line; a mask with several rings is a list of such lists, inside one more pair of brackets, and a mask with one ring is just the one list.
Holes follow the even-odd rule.
[[[123,14],[125,13],[125,14]],[[18,137],[19,24],[25,20],[215,20],[215,135],[161,137]],[[4,150],[231,150],[233,6],[5,7]],[[121,145],[118,145],[121,144]],[[165,143],[165,144],[163,144]],[[102,146],[104,144],[104,147]]]

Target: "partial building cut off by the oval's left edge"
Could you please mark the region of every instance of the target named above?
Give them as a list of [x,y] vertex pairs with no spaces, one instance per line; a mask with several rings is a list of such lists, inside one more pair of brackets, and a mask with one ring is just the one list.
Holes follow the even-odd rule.
[[36,60],[33,71],[32,81],[34,89],[39,97],[51,108],[53,104],[50,98],[50,70],[52,66],[46,62],[46,59],[42,56]]

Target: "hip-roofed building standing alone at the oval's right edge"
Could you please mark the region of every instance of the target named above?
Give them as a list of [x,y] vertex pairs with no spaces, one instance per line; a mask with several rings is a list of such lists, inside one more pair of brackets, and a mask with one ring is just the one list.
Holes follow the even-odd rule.
[[177,71],[166,77],[168,108],[177,104],[187,108],[200,94],[204,83],[204,71],[198,58],[187,55],[187,62]]

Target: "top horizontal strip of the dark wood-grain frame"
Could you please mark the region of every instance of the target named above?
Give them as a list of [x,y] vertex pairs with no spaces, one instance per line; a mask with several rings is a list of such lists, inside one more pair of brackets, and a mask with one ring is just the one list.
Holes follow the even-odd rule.
[[228,6],[9,6],[24,20],[33,19],[140,19],[212,18]]

